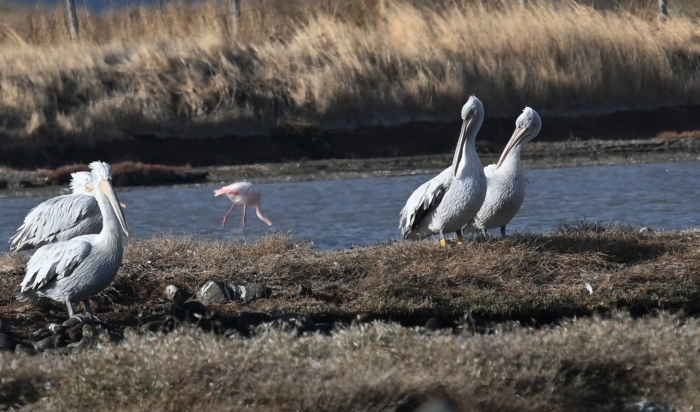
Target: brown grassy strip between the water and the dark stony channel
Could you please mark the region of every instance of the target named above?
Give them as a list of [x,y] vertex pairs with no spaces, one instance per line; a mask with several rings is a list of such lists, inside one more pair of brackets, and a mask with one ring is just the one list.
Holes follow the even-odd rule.
[[[270,299],[219,309],[277,308],[316,319],[370,313],[425,322],[470,312],[496,320],[548,321],[615,308],[694,313],[700,302],[699,251],[695,231],[641,234],[589,224],[448,248],[425,241],[342,251],[317,251],[281,235],[252,244],[160,236],[130,242],[101,300],[108,308],[143,307],[166,302],[168,284],[194,294],[218,279],[259,282],[273,290]],[[7,305],[23,276],[23,260],[4,255],[0,267],[0,303]],[[298,296],[300,284],[314,295]]]

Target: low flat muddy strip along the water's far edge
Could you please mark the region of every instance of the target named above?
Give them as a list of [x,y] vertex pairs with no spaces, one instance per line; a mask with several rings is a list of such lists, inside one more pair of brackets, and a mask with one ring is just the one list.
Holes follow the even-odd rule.
[[[681,135],[682,136],[682,135]],[[634,140],[571,140],[531,142],[523,153],[527,168],[590,166],[700,158],[700,139],[694,137]],[[498,160],[502,147],[479,146],[484,165]],[[240,180],[293,182],[430,174],[452,162],[449,152],[389,158],[301,160],[250,165],[181,167],[122,162],[113,164],[115,185],[124,188],[154,185],[222,184]],[[51,196],[66,190],[70,172],[87,170],[87,164],[55,170],[0,168],[0,197]]]

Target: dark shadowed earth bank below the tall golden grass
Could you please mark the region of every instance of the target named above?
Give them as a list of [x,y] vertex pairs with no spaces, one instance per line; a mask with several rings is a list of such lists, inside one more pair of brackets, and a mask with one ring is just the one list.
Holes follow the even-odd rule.
[[[623,141],[651,139],[660,134],[700,130],[700,106],[636,110],[607,115],[555,117],[542,115],[543,128],[536,142],[554,143],[551,154],[564,149],[572,154],[608,149],[634,151]],[[495,154],[513,132],[514,118],[487,117],[478,137],[483,154]],[[288,126],[264,136],[218,138],[167,138],[134,134],[129,140],[82,145],[80,143],[5,141],[0,145],[0,165],[11,169],[55,169],[100,159],[174,166],[209,167],[307,160],[403,158],[439,155],[453,150],[460,122],[415,122],[353,130],[321,130]],[[572,142],[573,141],[573,142]],[[590,143],[586,143],[590,141]],[[533,152],[531,145],[528,152]],[[619,146],[619,147],[618,147]],[[642,144],[639,151],[652,148]],[[546,146],[545,146],[546,147]],[[632,146],[633,147],[633,146]],[[542,150],[548,156],[547,149]]]

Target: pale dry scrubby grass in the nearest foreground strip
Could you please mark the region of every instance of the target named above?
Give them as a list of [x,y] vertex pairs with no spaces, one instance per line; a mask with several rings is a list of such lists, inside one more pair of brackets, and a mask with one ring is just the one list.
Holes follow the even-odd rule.
[[445,397],[464,412],[578,412],[646,399],[685,411],[700,407],[698,351],[700,323],[665,314],[475,336],[384,324],[331,337],[176,332],[65,357],[0,353],[0,402],[52,411],[412,411]]

